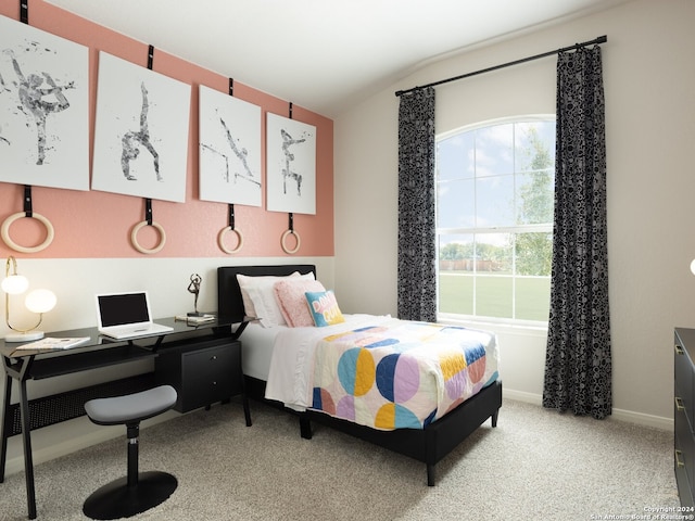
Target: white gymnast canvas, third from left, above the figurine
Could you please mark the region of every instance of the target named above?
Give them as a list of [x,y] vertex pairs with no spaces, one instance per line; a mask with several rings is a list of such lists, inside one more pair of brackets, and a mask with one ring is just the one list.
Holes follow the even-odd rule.
[[200,199],[261,206],[261,107],[200,89]]

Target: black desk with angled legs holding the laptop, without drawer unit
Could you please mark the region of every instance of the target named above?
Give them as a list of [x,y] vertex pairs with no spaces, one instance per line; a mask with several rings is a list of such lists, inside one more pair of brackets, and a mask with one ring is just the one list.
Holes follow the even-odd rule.
[[[31,430],[83,416],[85,414],[84,405],[91,398],[142,391],[154,384],[152,373],[148,373],[29,402],[26,392],[28,380],[41,380],[117,364],[153,359],[159,356],[160,351],[166,348],[170,338],[180,338],[182,333],[189,333],[191,342],[195,342],[198,338],[204,335],[204,338],[219,336],[237,340],[249,320],[251,319],[243,317],[238,320],[215,320],[193,326],[186,321],[175,320],[174,317],[156,319],[157,323],[172,327],[172,331],[127,341],[114,341],[102,336],[96,328],[46,333],[46,336],[89,338],[88,342],[70,350],[17,350],[17,346],[22,345],[21,343],[5,343],[4,340],[0,340],[0,356],[5,372],[2,424],[0,424],[2,434],[0,483],[4,481],[8,439],[21,433],[24,446],[28,516],[29,519],[36,519]],[[10,403],[12,380],[16,380],[20,386],[20,402],[17,404]],[[245,392],[243,393],[243,407],[247,424],[250,424],[249,402]]]

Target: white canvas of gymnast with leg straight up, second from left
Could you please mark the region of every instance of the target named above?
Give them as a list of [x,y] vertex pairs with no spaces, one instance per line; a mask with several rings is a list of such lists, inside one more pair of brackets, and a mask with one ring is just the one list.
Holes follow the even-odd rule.
[[191,87],[99,53],[92,190],[186,201]]

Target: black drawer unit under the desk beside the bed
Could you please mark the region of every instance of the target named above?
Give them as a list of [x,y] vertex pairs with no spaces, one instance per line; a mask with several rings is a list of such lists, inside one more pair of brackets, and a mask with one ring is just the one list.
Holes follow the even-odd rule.
[[178,392],[175,410],[187,412],[225,402],[243,392],[241,343],[228,339],[164,348],[156,358],[156,379]]

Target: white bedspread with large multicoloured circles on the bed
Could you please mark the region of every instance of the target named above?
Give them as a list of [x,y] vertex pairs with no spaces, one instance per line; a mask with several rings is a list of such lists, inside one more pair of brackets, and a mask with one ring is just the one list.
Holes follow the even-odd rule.
[[[496,339],[485,331],[370,316],[299,329],[307,331],[278,335],[266,397],[374,429],[424,429],[497,378]],[[285,365],[275,372],[287,393],[274,365]]]

